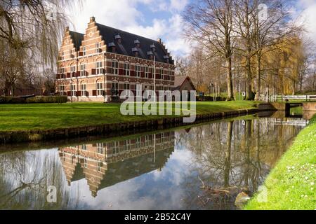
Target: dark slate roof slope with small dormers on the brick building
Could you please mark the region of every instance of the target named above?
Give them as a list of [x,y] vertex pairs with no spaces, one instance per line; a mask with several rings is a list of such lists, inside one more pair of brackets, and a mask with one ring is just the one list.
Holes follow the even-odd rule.
[[[168,52],[166,52],[162,43],[151,40],[149,38],[145,38],[143,36],[131,34],[126,31],[122,31],[112,27],[107,27],[105,25],[100,25],[98,23],[96,23],[96,25],[100,31],[100,35],[103,36],[103,40],[107,45],[109,45],[109,43],[112,42],[116,44],[118,54],[134,57],[132,49],[136,47],[134,41],[138,39],[138,41],[140,41],[140,50],[138,57],[143,59],[150,59],[150,57],[147,55],[147,52],[151,51],[150,45],[154,44],[156,46],[155,55],[157,62],[165,62],[164,56],[168,55]],[[117,34],[121,36],[121,46],[123,48],[121,48],[121,46],[119,46],[119,44],[115,40],[115,36]],[[170,60],[170,64],[173,64],[173,60]]]

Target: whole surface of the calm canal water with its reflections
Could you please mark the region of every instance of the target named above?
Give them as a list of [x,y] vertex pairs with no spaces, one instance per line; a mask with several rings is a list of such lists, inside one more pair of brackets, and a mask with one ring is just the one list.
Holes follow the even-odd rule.
[[237,194],[255,193],[308,124],[279,117],[7,146],[0,151],[0,209],[237,209]]

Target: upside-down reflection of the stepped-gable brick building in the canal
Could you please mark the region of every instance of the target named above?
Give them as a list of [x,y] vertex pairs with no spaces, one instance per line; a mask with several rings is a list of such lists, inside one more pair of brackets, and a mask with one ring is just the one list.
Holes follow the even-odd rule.
[[174,151],[174,132],[136,139],[59,148],[68,184],[86,179],[93,197],[98,190],[162,169]]

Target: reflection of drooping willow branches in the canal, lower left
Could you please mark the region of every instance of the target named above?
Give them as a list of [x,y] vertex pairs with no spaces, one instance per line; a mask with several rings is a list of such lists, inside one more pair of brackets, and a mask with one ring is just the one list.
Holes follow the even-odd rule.
[[[70,200],[55,151],[31,151],[0,155],[0,209],[60,209]],[[48,203],[48,186],[57,188],[57,203]]]

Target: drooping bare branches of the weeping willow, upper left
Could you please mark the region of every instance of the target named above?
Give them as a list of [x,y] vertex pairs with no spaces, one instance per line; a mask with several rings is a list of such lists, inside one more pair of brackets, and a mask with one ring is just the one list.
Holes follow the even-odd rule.
[[78,1],[0,1],[0,41],[12,50],[27,49],[28,57],[53,66],[58,41],[69,21],[65,10],[75,2]]

